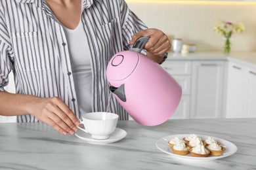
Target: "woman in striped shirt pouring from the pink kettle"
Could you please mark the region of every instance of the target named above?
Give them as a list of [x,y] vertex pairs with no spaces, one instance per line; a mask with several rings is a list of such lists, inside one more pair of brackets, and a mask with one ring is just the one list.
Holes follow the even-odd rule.
[[[106,65],[139,37],[149,58],[163,61],[171,44],[147,29],[123,0],[0,1],[0,115],[77,130],[83,112],[106,110]],[[16,94],[5,92],[10,71]],[[112,97],[110,111],[127,120]]]

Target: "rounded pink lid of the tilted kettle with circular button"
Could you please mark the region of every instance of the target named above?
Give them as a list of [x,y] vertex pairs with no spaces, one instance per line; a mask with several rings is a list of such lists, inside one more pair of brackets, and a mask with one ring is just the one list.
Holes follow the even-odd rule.
[[110,59],[106,69],[108,80],[123,80],[133,73],[139,62],[139,53],[123,51]]

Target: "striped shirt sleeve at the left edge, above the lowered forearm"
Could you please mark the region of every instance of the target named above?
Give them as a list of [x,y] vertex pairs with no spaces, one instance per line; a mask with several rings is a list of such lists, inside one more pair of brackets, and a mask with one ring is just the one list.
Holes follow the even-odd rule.
[[0,92],[5,91],[4,87],[9,82],[8,75],[12,70],[12,57],[14,53],[11,47],[11,39],[5,24],[4,13],[0,9]]

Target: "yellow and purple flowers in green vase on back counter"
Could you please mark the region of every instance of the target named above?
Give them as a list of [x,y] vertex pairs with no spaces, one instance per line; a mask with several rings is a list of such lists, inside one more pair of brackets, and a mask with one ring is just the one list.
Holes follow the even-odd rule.
[[233,33],[242,33],[245,30],[245,26],[242,22],[234,24],[232,22],[219,21],[215,24],[213,29],[216,33],[221,34],[225,39],[224,52],[230,52],[230,37]]

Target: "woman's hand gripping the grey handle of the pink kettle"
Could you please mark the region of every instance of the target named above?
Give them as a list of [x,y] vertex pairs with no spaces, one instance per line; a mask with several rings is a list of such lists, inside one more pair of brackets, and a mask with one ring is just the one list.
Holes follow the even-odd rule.
[[154,56],[161,56],[171,48],[171,42],[167,35],[159,29],[144,29],[133,35],[130,44],[134,44],[140,37],[150,37],[144,49]]

